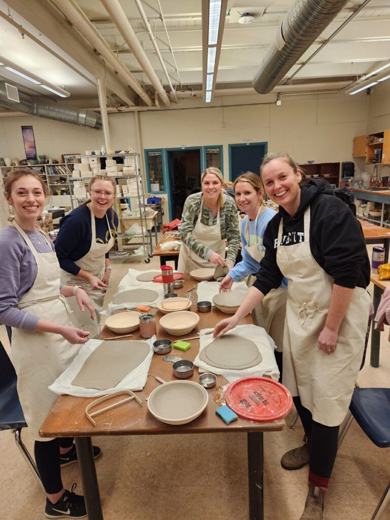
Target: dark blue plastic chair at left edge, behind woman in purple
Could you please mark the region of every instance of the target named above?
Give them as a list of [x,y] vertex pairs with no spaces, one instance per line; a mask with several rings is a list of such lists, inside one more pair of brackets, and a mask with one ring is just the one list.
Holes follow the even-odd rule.
[[[8,332],[9,334],[9,332]],[[21,438],[22,428],[27,428],[16,389],[17,376],[3,344],[0,342],[0,431],[15,432],[15,442],[24,460],[43,489],[37,467]]]

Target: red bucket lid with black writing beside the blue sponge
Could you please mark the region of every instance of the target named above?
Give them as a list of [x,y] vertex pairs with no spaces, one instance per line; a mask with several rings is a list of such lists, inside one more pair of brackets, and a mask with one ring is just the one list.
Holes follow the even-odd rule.
[[288,389],[268,378],[242,378],[226,391],[226,404],[242,419],[269,422],[282,419],[293,400]]

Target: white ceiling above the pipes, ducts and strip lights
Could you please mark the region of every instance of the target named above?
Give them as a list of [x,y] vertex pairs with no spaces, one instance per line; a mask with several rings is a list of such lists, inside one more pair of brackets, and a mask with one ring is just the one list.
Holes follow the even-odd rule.
[[[167,38],[158,0],[141,0],[151,24],[153,32],[170,73],[172,83],[177,89],[201,89],[202,85],[202,19],[201,0],[160,0],[166,28],[170,37],[174,59],[168,48]],[[35,16],[34,2],[43,8],[40,16]],[[142,86],[152,91],[146,74],[141,70],[137,60],[128,49],[115,24],[98,0],[76,0],[77,5],[93,22],[96,29],[105,38],[111,49],[118,53],[128,70]],[[153,49],[149,35],[145,31],[139,11],[134,0],[120,0],[120,3],[136,32],[154,71],[164,87],[167,81],[161,63]],[[226,16],[222,50],[220,53],[216,88],[232,88],[250,86],[252,77],[259,63],[274,40],[278,26],[293,4],[293,0],[229,0]],[[292,67],[285,79],[293,74],[300,64],[318,49],[348,16],[362,3],[362,0],[348,2],[336,19],[323,31],[315,44],[311,45],[298,63]],[[261,4],[261,5],[259,5]],[[12,18],[8,16],[8,8]],[[240,14],[249,13],[255,17],[255,23],[242,25],[238,23]],[[57,13],[57,15],[56,15]],[[43,17],[45,18],[43,20]],[[102,59],[93,56],[95,65],[83,55],[79,60],[80,49],[84,45],[89,53],[92,46],[77,35],[75,42],[56,31],[56,24],[66,25],[62,13],[54,8],[49,0],[0,0],[0,55],[14,61],[24,69],[42,79],[58,85],[71,93],[69,101],[97,97],[94,76]],[[15,25],[22,25],[26,33],[22,38]],[[74,31],[74,29],[72,29]],[[72,47],[71,47],[72,45]],[[78,54],[79,53],[79,54]],[[91,55],[92,56],[92,55]],[[94,60],[90,60],[91,63]],[[296,82],[321,81],[354,81],[382,64],[390,61],[390,0],[372,0],[356,17],[342,29],[332,41],[324,46],[294,77]],[[175,67],[177,64],[177,69]],[[95,69],[94,69],[95,67]],[[93,70],[94,69],[94,70]],[[126,82],[118,76],[116,79],[112,69],[113,82],[121,82],[123,89]],[[0,75],[5,76],[0,68]],[[24,86],[17,77],[7,73],[8,80],[14,80]],[[112,83],[114,85],[114,83]],[[109,88],[114,92],[114,88]],[[26,91],[26,92],[30,92]],[[42,95],[43,90],[34,86],[34,93]],[[119,92],[119,90],[118,90]],[[133,93],[134,95],[134,93]],[[58,98],[57,98],[58,99]],[[122,98],[123,99],[123,98]]]

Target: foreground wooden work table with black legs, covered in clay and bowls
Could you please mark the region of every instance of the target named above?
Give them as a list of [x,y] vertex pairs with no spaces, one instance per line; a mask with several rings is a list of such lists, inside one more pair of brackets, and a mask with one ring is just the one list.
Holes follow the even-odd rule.
[[[178,294],[186,293],[187,289],[196,285],[189,276]],[[196,292],[191,291],[193,302],[191,310],[196,311]],[[157,321],[161,318],[160,311],[156,312]],[[196,335],[203,328],[213,327],[220,319],[227,315],[213,308],[210,313],[200,313],[198,326],[185,337]],[[246,316],[242,324],[252,323],[251,316]],[[106,327],[103,328],[100,339],[114,336]],[[118,335],[120,338],[120,336]],[[157,323],[157,337],[168,337],[177,340],[177,336],[167,334]],[[134,340],[140,339],[139,331],[134,332]],[[182,338],[180,338],[182,339]],[[191,348],[187,352],[173,349],[172,354],[183,359],[194,360],[199,352],[199,340],[191,340]],[[248,437],[248,475],[249,475],[249,518],[250,520],[262,520],[264,518],[264,482],[263,482],[263,432],[281,431],[285,427],[284,420],[271,423],[253,423],[238,419],[227,425],[215,414],[219,406],[224,385],[227,381],[220,375],[217,376],[217,384],[209,391],[209,403],[205,411],[196,420],[189,424],[173,426],[164,424],[155,419],[148,411],[146,398],[151,391],[159,385],[154,376],[160,376],[166,381],[174,380],[172,375],[172,363],[163,361],[164,356],[153,355],[149,369],[149,378],[142,392],[137,395],[142,399],[143,406],[140,407],[134,400],[119,408],[114,408],[106,413],[99,414],[96,427],[85,417],[85,407],[92,398],[81,398],[72,396],[60,396],[55,406],[49,413],[41,426],[42,437],[75,437],[77,457],[79,459],[81,481],[84,490],[85,504],[89,520],[102,520],[103,513],[100,504],[99,487],[96,476],[95,462],[92,452],[92,435],[166,435],[187,433],[216,433],[216,432],[245,432]],[[195,368],[192,381],[198,381],[198,369]],[[123,398],[123,397],[122,397]],[[121,397],[115,398],[120,400]],[[114,401],[112,401],[114,402]]]

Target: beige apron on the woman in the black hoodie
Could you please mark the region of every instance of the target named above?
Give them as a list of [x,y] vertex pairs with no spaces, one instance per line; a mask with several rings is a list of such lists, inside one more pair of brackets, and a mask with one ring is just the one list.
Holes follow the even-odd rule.
[[289,279],[283,341],[283,384],[299,395],[313,419],[338,426],[347,413],[359,372],[371,298],[356,287],[341,323],[336,349],[318,349],[332,296],[333,279],[310,251],[310,207],[304,215],[304,241],[280,245],[283,219],[278,233],[277,263]]

